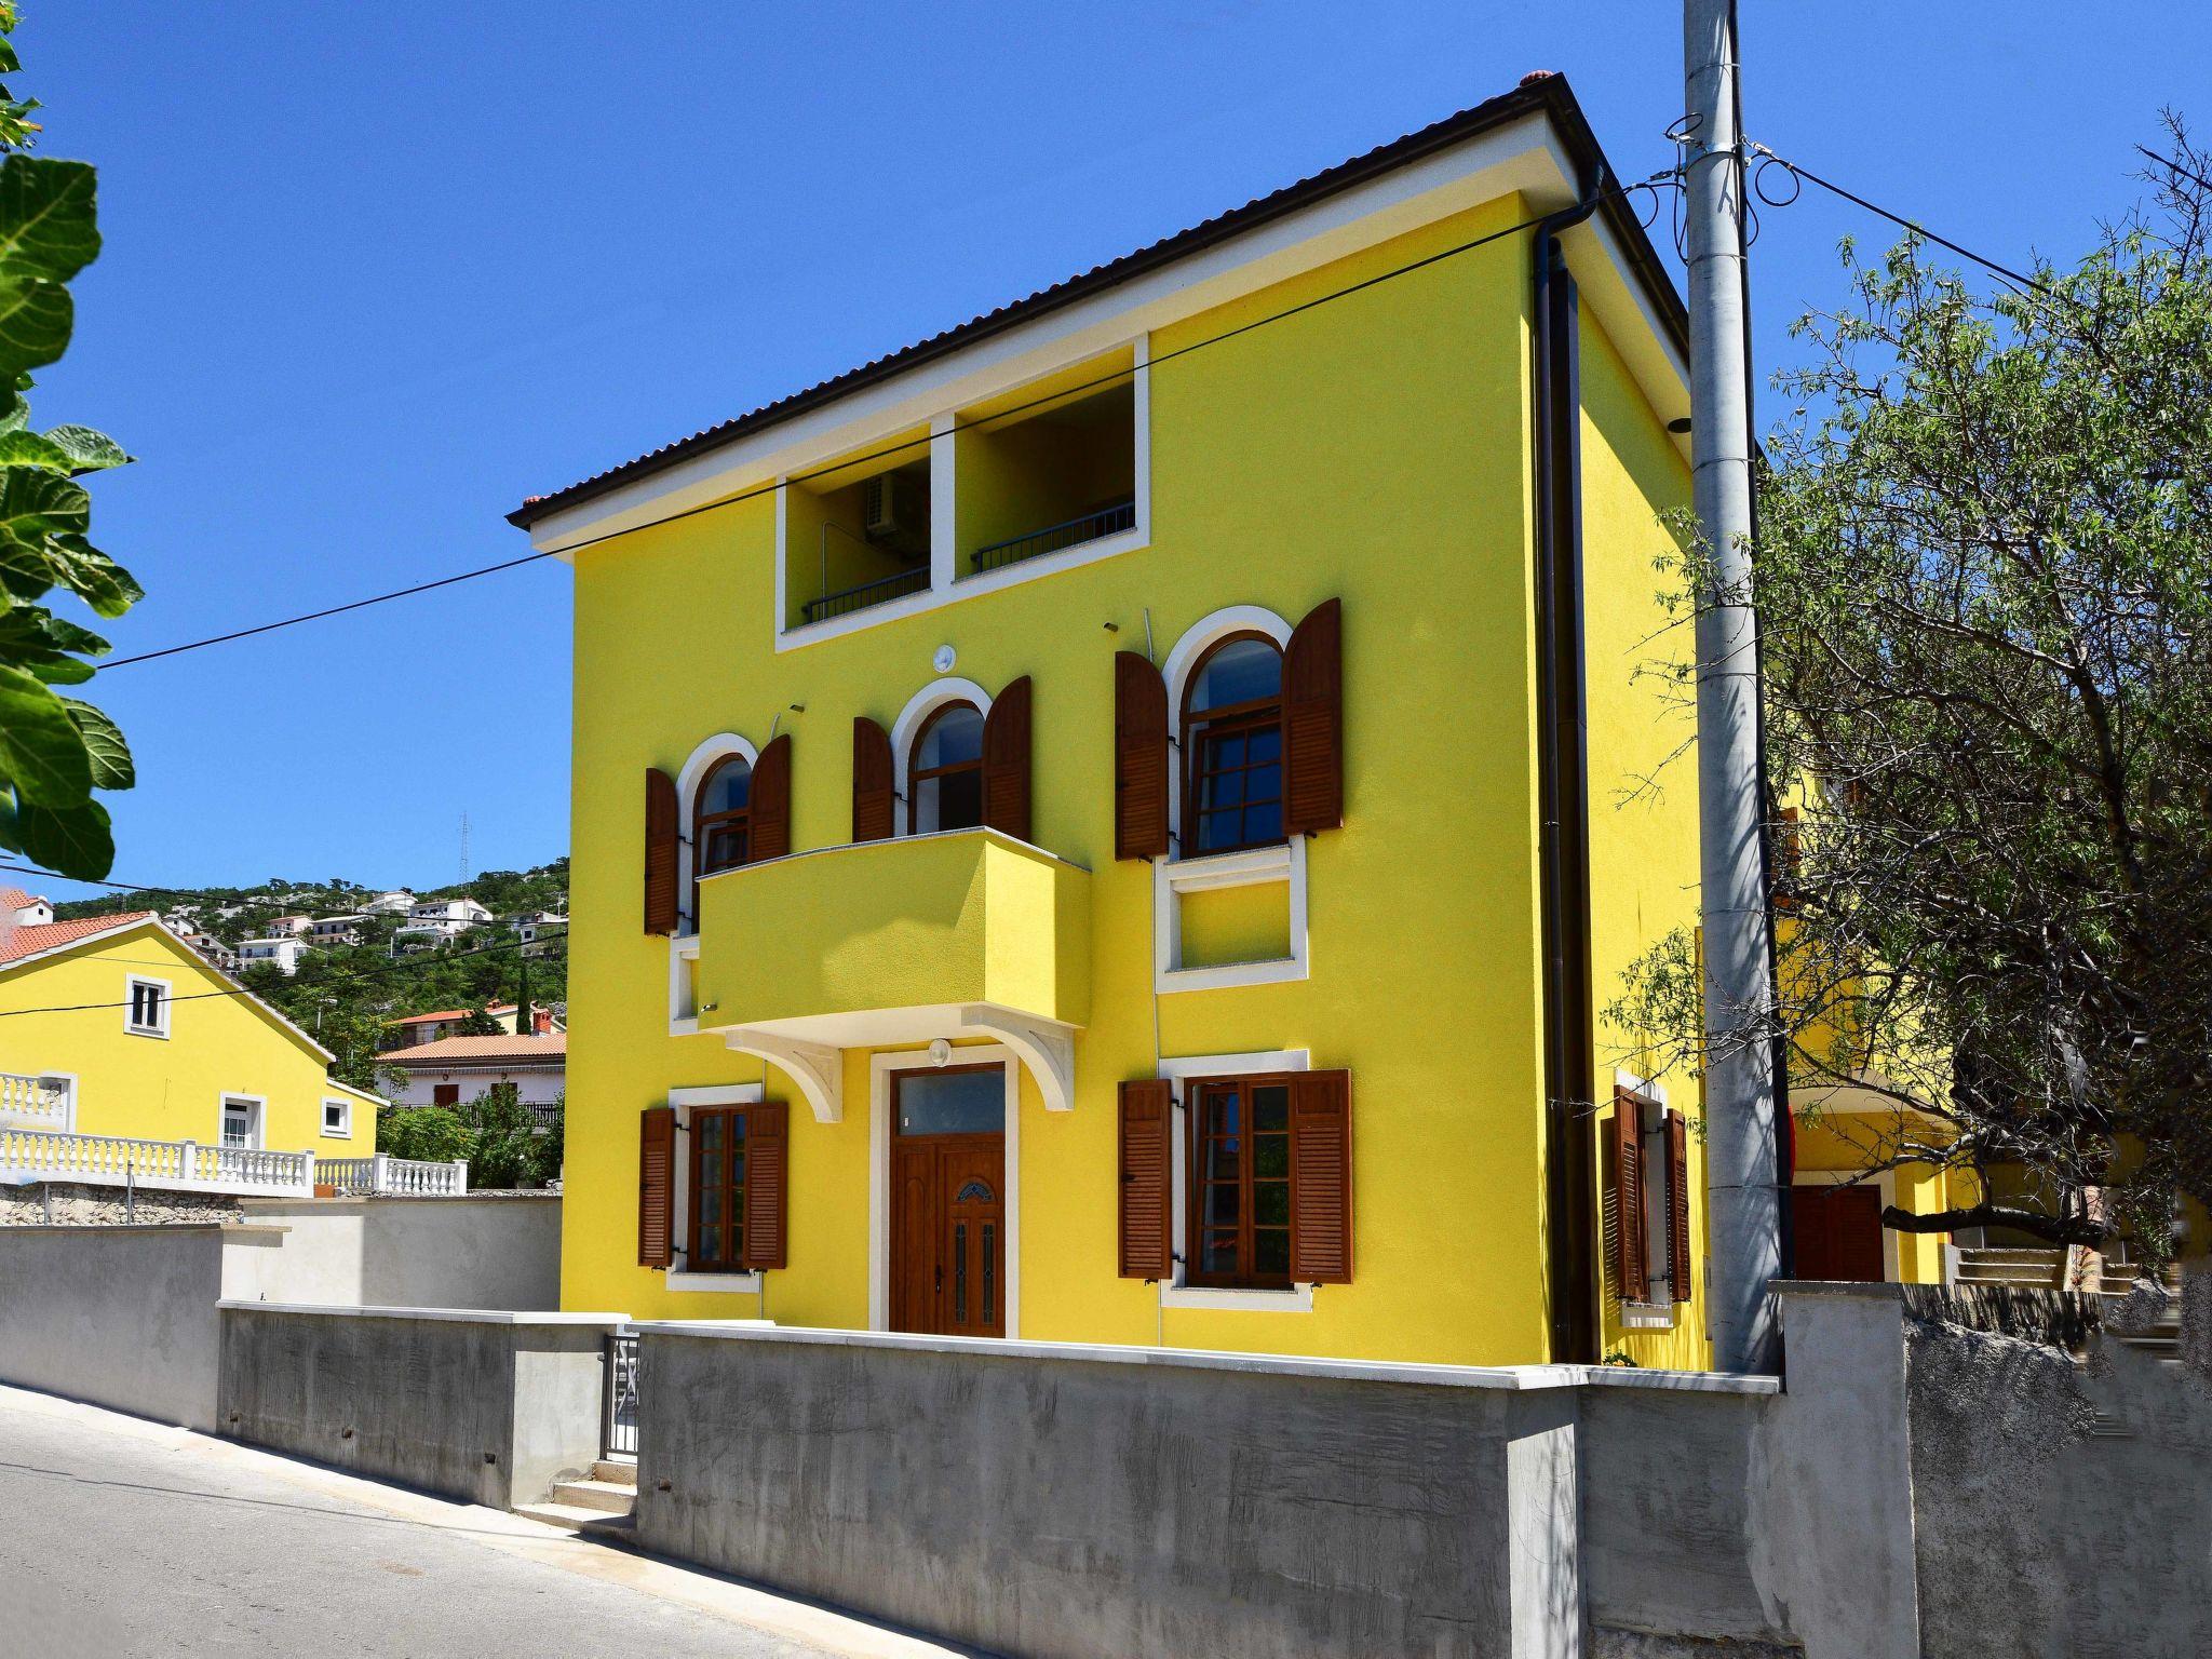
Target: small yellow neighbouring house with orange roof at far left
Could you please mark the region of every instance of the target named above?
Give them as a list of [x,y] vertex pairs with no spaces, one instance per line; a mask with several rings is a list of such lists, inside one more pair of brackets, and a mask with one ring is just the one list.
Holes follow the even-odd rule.
[[[190,1172],[175,1150],[135,1152],[131,1168],[170,1186],[268,1186],[290,1166],[234,1155],[376,1150],[376,1095],[327,1068],[327,1048],[153,911],[55,922],[44,898],[0,889],[0,1133],[190,1141]],[[46,1152],[15,1137],[0,1175],[35,1172]],[[100,1146],[71,1159],[124,1172]]]

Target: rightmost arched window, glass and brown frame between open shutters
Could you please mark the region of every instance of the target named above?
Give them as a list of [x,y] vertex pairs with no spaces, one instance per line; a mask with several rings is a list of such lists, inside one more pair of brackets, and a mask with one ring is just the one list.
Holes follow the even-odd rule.
[[1183,692],[1183,854],[1283,838],[1283,650],[1234,633]]

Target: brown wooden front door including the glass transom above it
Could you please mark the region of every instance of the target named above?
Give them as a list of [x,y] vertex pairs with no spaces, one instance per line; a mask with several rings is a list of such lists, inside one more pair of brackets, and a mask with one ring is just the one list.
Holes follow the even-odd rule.
[[1002,1121],[1002,1091],[1000,1066],[894,1073],[894,1332],[1006,1334],[1006,1135],[964,1128]]

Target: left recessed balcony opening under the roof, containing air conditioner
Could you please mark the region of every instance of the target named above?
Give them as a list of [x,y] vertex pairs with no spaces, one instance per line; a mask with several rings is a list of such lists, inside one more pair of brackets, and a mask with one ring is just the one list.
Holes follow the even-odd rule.
[[[891,445],[878,445],[889,449]],[[905,458],[911,456],[911,458]],[[867,465],[867,462],[863,462]],[[929,586],[929,445],[783,487],[785,626],[830,622]]]

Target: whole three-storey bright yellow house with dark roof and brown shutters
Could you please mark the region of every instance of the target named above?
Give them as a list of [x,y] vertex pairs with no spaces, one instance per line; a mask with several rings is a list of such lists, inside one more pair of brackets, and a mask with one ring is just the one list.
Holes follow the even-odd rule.
[[1531,77],[513,513],[568,1307],[1708,1363],[1697,1086],[1595,1015],[1697,896],[1606,179]]

